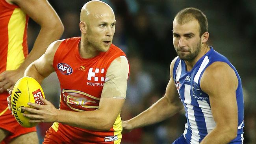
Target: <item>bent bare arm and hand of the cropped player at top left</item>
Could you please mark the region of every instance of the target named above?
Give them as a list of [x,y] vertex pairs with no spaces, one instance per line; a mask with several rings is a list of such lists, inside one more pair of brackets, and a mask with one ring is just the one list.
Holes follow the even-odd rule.
[[32,51],[19,68],[0,74],[0,81],[2,81],[0,92],[12,89],[16,81],[23,76],[26,67],[43,55],[49,44],[59,39],[64,30],[59,16],[47,0],[7,0],[7,2],[17,4],[22,11],[41,26],[41,30]]

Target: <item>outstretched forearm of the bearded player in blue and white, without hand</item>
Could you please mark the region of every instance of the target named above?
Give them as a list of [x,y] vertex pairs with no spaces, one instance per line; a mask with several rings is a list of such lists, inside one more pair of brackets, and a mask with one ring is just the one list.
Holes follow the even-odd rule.
[[180,103],[170,103],[166,97],[163,97],[146,111],[130,119],[129,124],[132,129],[148,126],[173,116],[180,109],[182,109]]

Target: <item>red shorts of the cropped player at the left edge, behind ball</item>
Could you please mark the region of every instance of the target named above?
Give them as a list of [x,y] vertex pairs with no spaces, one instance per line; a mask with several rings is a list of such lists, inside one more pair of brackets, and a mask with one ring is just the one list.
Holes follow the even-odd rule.
[[[11,114],[11,111],[8,108],[8,103],[6,100],[7,96],[9,96],[7,92],[0,94],[0,129],[5,129],[10,132],[9,135],[7,135],[7,137],[3,140],[3,142],[9,143],[12,138],[36,131],[36,129],[35,127],[22,127],[15,120],[15,117]],[[1,144],[4,144],[3,142]]]

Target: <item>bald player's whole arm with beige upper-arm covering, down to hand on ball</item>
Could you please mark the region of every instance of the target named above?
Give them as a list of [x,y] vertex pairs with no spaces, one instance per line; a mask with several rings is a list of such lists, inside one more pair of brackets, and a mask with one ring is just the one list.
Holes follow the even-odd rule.
[[[109,80],[104,83],[97,110],[84,112],[57,110],[50,102],[41,99],[46,105],[31,104],[37,109],[25,108],[25,110],[36,114],[26,114],[26,116],[39,119],[31,122],[61,122],[84,129],[108,131],[113,127],[125,100],[129,66],[127,60],[121,59],[120,57],[115,59],[108,68],[106,75],[109,76]],[[114,71],[115,74],[109,74]]]

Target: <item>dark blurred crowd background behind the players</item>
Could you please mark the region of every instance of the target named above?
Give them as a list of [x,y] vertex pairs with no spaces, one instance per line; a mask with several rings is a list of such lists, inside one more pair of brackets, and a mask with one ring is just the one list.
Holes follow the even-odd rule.
[[[200,9],[208,18],[213,48],[225,55],[241,76],[245,100],[244,143],[256,144],[256,1],[235,0],[103,0],[115,12],[113,44],[130,61],[130,78],[122,120],[147,109],[165,94],[170,79],[169,66],[176,52],[173,47],[173,18],[185,7]],[[65,31],[61,39],[80,36],[80,9],[87,0],[49,0],[60,16]],[[32,48],[40,27],[30,19],[28,44]],[[59,107],[56,74],[43,81],[48,100]],[[163,107],[164,109],[164,107]],[[184,110],[148,127],[123,134],[122,144],[170,144],[184,131]],[[52,124],[37,126],[41,141]]]

